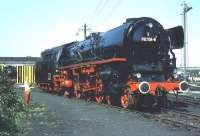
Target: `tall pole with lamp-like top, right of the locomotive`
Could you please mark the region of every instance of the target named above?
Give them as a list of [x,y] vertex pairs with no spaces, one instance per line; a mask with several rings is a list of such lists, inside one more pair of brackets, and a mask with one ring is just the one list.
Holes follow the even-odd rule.
[[189,7],[185,1],[183,2],[183,4],[181,4],[181,6],[183,6],[183,27],[184,27],[184,52],[183,52],[183,59],[184,59],[184,77],[186,78],[186,67],[187,67],[187,12],[190,11],[192,9],[192,7]]

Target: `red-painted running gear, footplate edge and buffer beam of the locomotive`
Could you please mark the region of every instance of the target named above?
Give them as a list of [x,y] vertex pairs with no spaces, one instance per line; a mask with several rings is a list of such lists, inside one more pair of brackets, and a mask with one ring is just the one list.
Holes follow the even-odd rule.
[[[52,78],[52,83],[39,83],[39,87],[43,90],[58,92],[62,88],[65,88],[66,91],[64,95],[74,95],[77,98],[80,98],[82,95],[92,92],[95,96],[95,100],[98,103],[101,103],[105,98],[108,104],[111,104],[110,96],[105,96],[103,92],[103,81],[99,78],[97,74],[97,67],[102,64],[107,63],[117,63],[117,62],[126,62],[126,58],[110,58],[104,60],[90,61],[85,63],[73,64],[70,66],[63,66],[59,68],[60,74],[54,75]],[[68,73],[72,73],[73,81],[69,77]],[[93,83],[88,80],[79,81],[80,74],[94,77]],[[123,108],[128,108],[130,105],[131,99],[133,99],[133,94],[156,94],[156,90],[160,89],[164,93],[169,93],[170,91],[175,91],[176,93],[179,90],[187,91],[188,88],[182,87],[186,82],[181,82],[176,79],[169,79],[166,82],[137,82],[132,79],[128,79],[126,87],[121,93],[120,104]],[[146,88],[145,88],[146,86]],[[68,90],[68,91],[67,91]],[[69,92],[69,90],[71,92]]]

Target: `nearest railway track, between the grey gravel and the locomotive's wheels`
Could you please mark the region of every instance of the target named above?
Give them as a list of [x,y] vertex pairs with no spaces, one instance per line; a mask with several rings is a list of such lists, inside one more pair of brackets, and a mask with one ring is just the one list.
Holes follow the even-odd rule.
[[[76,98],[72,98],[77,100]],[[81,99],[78,99],[81,102]],[[96,103],[95,101],[87,101],[91,104],[102,105],[106,108],[115,109],[120,112],[128,112],[138,114],[144,118],[148,118],[157,122],[166,124],[169,127],[182,128],[188,131],[200,132],[200,115],[182,112],[175,109],[161,108],[159,112],[143,112],[135,109],[123,109],[119,106],[107,105],[104,103]]]

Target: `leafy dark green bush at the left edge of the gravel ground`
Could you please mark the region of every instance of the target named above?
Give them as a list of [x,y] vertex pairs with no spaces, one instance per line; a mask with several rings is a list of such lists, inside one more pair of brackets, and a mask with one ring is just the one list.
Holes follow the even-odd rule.
[[16,135],[23,109],[22,101],[14,89],[14,81],[0,72],[0,136]]

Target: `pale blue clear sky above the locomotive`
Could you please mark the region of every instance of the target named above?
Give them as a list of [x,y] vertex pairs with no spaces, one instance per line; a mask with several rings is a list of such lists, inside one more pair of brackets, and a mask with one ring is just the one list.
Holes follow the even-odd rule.
[[[152,17],[164,28],[182,25],[182,0],[0,0],[0,56],[40,56],[41,51],[82,40],[78,29],[106,31],[126,18]],[[188,64],[200,67],[200,1],[186,0]],[[178,66],[181,52],[176,51]]]

